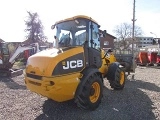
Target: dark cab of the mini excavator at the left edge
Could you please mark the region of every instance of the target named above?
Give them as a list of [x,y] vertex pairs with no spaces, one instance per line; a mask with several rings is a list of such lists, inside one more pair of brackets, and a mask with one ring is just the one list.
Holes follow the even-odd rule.
[[7,64],[9,61],[9,48],[7,43],[0,43],[0,64]]

